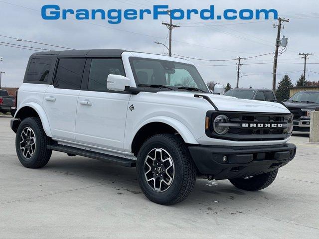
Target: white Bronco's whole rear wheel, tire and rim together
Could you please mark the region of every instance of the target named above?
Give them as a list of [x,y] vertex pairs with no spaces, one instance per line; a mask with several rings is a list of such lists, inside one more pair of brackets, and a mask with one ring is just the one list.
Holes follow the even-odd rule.
[[49,138],[46,136],[40,119],[29,117],[23,119],[15,135],[15,150],[19,161],[27,168],[45,166],[52,150],[46,148]]

